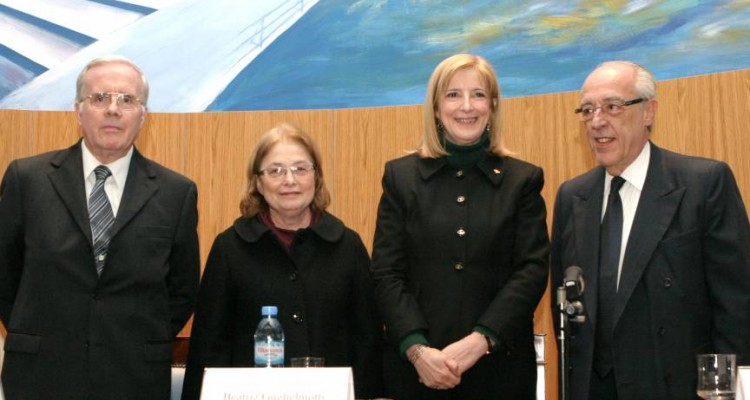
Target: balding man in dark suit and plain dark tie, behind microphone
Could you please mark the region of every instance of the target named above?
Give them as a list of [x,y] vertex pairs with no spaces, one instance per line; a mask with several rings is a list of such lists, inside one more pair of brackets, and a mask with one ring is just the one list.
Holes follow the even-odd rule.
[[[571,397],[695,399],[696,354],[750,363],[750,224],[726,163],[650,141],[656,82],[607,62],[575,110],[599,164],[559,189],[552,282],[579,266]],[[619,189],[613,189],[619,187]],[[557,305],[553,305],[557,309]]]

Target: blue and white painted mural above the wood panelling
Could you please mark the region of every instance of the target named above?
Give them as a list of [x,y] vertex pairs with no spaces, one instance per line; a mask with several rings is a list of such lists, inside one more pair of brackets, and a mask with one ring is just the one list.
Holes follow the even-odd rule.
[[156,112],[417,104],[457,52],[505,97],[576,90],[610,59],[660,80],[750,68],[750,1],[0,0],[0,108],[71,109],[107,54],[144,69]]

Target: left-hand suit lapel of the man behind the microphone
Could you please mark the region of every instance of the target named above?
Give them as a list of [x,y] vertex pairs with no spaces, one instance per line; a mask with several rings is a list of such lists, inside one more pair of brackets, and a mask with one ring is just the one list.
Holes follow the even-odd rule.
[[591,174],[573,200],[573,221],[575,221],[576,251],[579,267],[586,279],[584,304],[591,321],[596,326],[597,299],[599,296],[599,225],[601,224],[602,196],[604,193],[604,169]]

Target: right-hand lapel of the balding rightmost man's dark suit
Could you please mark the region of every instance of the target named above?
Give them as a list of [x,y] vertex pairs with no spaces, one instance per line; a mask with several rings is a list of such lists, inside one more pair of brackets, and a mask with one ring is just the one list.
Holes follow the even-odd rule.
[[685,188],[666,172],[660,149],[651,145],[646,182],[630,230],[615,304],[615,323],[622,316],[630,296],[648,267],[649,260],[674,218]]

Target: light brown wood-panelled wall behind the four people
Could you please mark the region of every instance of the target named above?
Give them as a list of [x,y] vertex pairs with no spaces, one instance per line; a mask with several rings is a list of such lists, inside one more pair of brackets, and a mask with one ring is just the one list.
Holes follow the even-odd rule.
[[[501,77],[502,81],[502,77]],[[750,200],[750,69],[659,82],[652,139],[659,146],[726,161]],[[548,224],[559,185],[595,165],[583,124],[573,114],[579,93],[503,99],[503,134],[516,157],[545,172]],[[420,105],[344,110],[149,114],[138,148],[185,173],[199,190],[201,258],[217,233],[239,216],[245,169],[258,137],[279,122],[297,124],[323,157],[331,212],[372,246],[380,179],[387,160],[416,148]],[[70,146],[80,136],[72,112],[0,110],[0,174],[18,157]],[[749,244],[750,245],[750,244]],[[553,286],[559,283],[553,283]],[[555,334],[549,293],[536,331],[546,334],[548,399],[557,398]],[[189,326],[182,332],[189,334]]]

